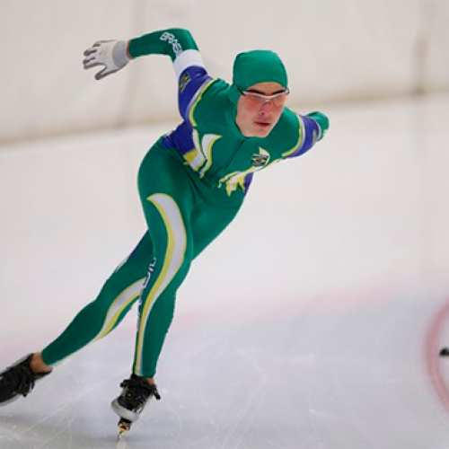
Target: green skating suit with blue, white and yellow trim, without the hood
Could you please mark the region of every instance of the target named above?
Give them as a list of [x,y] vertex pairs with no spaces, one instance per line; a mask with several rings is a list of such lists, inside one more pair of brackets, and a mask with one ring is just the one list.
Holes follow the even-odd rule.
[[157,141],[139,170],[148,231],[42,357],[56,365],[110,333],[139,301],[133,373],[152,377],[191,261],[233,220],[254,172],[304,154],[329,125],[320,112],[301,116],[285,108],[269,136],[242,136],[233,85],[207,74],[189,31],[156,31],[130,40],[128,54],[172,58],[183,120]]

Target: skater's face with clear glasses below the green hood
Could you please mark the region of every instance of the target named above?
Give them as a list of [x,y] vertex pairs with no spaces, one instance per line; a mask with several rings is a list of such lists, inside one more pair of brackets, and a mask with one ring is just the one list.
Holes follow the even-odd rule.
[[280,118],[288,90],[278,83],[259,83],[241,92],[235,123],[245,137],[266,137]]

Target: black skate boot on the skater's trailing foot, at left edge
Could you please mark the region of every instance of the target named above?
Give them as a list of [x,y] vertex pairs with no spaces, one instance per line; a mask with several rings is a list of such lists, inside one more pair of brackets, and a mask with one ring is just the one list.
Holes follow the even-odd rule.
[[9,404],[22,395],[26,397],[36,381],[50,373],[36,374],[31,370],[32,354],[21,358],[0,373],[0,406]]

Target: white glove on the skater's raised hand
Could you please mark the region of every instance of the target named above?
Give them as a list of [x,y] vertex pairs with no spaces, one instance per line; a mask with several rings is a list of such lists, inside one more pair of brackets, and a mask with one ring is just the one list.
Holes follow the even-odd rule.
[[127,42],[125,40],[98,40],[91,48],[84,51],[85,69],[103,66],[95,75],[96,80],[118,72],[131,60],[127,55]]

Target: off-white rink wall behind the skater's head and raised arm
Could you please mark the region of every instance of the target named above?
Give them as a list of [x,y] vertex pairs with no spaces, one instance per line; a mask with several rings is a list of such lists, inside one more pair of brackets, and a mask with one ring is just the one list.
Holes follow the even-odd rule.
[[270,48],[300,108],[449,90],[448,19],[447,0],[3,0],[0,143],[175,119],[168,57],[96,82],[82,68],[95,40],[187,28],[227,80],[237,53]]

